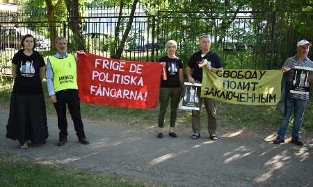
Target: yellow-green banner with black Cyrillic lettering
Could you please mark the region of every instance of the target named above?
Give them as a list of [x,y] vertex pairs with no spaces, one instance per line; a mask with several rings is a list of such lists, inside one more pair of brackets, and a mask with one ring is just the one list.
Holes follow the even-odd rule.
[[203,69],[202,98],[242,105],[277,105],[281,70]]

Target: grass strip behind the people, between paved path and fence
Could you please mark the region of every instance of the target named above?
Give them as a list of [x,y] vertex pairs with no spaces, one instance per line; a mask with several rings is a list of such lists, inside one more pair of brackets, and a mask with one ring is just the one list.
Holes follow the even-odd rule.
[[[50,102],[47,93],[47,84],[42,82],[45,91],[47,116],[56,117],[53,104]],[[13,80],[3,78],[0,85],[0,107],[8,111],[10,106],[10,94],[13,87]],[[312,91],[310,93],[312,96]],[[277,130],[280,123],[280,114],[275,106],[254,106],[254,105],[234,105],[216,101],[219,128],[223,130],[248,129],[262,127]],[[204,111],[202,105],[202,111]],[[169,106],[168,106],[169,111]],[[303,131],[313,130],[313,102],[307,102],[307,109],[303,121]],[[97,121],[97,123],[112,123],[126,127],[141,127],[157,125],[159,115],[159,103],[155,109],[129,109],[125,107],[111,107],[103,105],[93,105],[81,103],[81,116],[86,121]],[[166,118],[170,113],[166,113]],[[201,112],[202,123],[206,123],[206,113]],[[176,130],[191,129],[191,112],[178,110]]]

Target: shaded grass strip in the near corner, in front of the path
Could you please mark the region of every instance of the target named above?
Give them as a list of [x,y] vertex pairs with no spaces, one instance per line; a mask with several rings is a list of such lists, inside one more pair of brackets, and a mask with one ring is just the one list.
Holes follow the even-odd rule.
[[[0,154],[0,186],[160,186],[141,179],[85,172],[51,163],[39,163],[12,154]],[[161,186],[166,186],[161,184]]]

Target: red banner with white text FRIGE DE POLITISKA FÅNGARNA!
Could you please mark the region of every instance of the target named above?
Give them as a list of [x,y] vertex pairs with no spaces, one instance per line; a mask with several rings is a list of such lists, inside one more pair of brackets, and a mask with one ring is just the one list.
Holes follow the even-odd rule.
[[77,52],[77,84],[82,102],[150,109],[157,106],[162,65],[115,60]]

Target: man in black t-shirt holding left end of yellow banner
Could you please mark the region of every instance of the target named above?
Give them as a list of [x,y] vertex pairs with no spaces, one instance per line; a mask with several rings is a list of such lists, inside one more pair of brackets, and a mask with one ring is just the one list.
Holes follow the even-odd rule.
[[[188,77],[188,82],[194,84],[195,82],[202,82],[202,68],[208,70],[211,69],[223,69],[220,57],[210,51],[211,39],[207,35],[200,37],[200,47],[201,50],[194,53],[186,68],[186,75]],[[199,64],[207,60],[207,64],[200,67]],[[210,138],[214,141],[218,140],[216,136],[217,120],[216,120],[216,103],[214,99],[211,98],[200,98],[200,106],[202,105],[202,100],[204,102],[205,109],[207,111],[207,130],[209,131]],[[200,107],[201,110],[201,107]],[[192,125],[193,125],[193,136],[192,139],[200,138],[200,110],[192,110]]]

